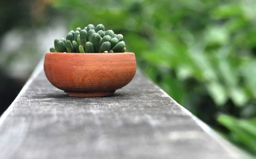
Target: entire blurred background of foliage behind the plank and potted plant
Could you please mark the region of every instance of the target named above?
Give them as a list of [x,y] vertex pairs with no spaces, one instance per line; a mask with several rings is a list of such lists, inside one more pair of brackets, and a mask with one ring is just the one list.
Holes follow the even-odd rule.
[[0,20],[1,113],[54,38],[101,23],[166,93],[256,156],[256,1],[4,0]]

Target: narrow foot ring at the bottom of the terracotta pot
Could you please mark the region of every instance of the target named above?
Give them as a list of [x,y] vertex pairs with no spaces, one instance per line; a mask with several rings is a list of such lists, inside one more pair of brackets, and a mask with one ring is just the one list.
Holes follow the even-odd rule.
[[105,97],[113,96],[116,90],[102,92],[66,92],[71,97]]

